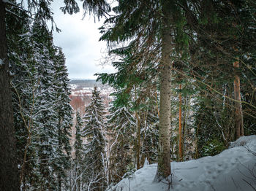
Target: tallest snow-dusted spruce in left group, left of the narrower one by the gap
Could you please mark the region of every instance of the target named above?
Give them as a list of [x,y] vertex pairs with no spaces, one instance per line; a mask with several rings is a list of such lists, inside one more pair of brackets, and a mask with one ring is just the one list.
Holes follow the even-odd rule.
[[[53,63],[54,51],[50,42],[50,34],[47,28],[35,22],[32,28],[34,39],[34,59],[38,66],[39,91],[37,97],[39,102],[36,105],[39,115],[36,117],[38,141],[39,168],[37,169],[38,181],[37,189],[57,190],[55,171],[56,160],[59,156],[58,148],[58,113],[55,109],[56,92],[54,88],[55,68]],[[45,183],[43,183],[45,182]]]

